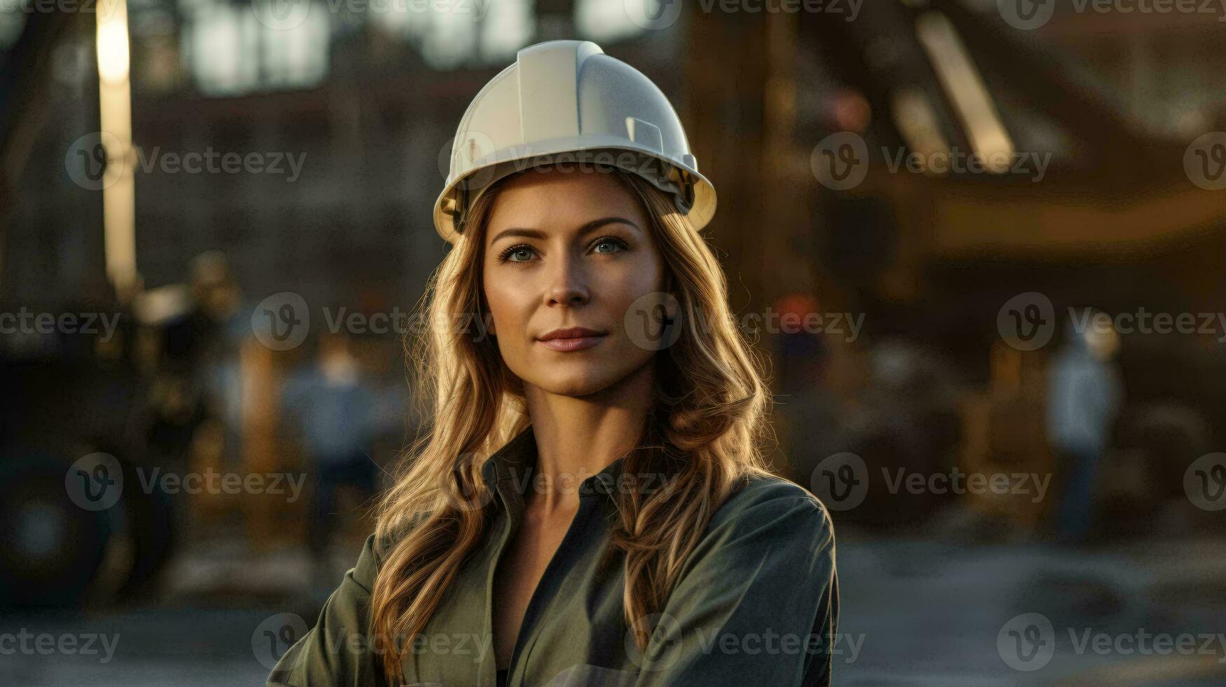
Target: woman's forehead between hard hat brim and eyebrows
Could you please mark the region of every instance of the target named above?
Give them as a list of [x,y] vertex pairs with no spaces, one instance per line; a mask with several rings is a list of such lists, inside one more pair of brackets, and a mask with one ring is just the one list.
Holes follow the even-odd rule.
[[487,237],[506,227],[565,231],[611,216],[631,220],[646,231],[642,206],[613,174],[554,168],[520,172],[498,191]]

